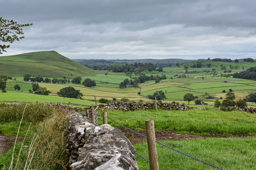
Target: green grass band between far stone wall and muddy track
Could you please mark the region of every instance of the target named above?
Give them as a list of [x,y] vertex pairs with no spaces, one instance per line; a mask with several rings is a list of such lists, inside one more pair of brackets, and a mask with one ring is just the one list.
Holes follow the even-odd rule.
[[[131,127],[145,129],[145,120],[152,119],[156,129],[208,134],[256,134],[256,115],[244,111],[108,111],[108,116]],[[109,124],[116,125],[109,120]]]

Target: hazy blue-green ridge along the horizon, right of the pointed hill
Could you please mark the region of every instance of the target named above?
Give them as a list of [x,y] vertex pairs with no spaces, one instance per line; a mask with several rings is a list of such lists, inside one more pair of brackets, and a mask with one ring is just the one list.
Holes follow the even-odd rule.
[[152,64],[157,64],[157,66],[163,66],[163,67],[168,67],[169,63],[172,63],[175,65],[176,63],[185,63],[185,62],[190,62],[191,60],[184,60],[184,59],[163,59],[163,60],[158,60],[158,59],[138,59],[138,60],[84,60],[84,59],[74,59],[74,61],[83,64],[84,66],[109,66],[111,64],[133,64],[134,62],[141,62],[141,63],[152,63]]

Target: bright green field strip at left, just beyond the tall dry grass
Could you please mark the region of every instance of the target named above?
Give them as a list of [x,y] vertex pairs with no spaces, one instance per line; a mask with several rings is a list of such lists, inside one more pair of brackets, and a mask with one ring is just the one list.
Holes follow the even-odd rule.
[[25,92],[13,92],[7,91],[6,93],[0,92],[0,101],[26,101],[26,102],[58,102],[58,103],[76,103],[91,105],[95,104],[92,101],[86,101],[81,99],[73,99],[68,97],[59,96],[44,96]]

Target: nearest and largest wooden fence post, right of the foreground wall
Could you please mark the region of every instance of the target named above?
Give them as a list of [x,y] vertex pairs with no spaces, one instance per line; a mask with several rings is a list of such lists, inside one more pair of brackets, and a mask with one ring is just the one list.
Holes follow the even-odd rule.
[[146,132],[147,132],[150,170],[159,170],[154,120],[146,120],[145,125],[146,125]]

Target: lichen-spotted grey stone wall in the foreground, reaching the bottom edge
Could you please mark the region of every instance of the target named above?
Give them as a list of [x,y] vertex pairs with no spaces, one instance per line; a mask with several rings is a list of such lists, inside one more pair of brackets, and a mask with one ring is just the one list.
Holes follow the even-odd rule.
[[138,169],[136,152],[118,128],[96,126],[77,112],[70,116],[66,152],[70,169]]

